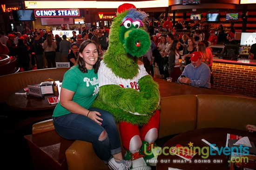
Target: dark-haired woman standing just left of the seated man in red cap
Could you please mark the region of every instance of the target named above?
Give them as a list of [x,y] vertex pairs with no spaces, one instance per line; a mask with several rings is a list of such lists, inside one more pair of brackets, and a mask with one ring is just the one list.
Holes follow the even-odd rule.
[[179,62],[179,59],[181,59],[181,56],[178,52],[180,48],[180,42],[179,40],[175,39],[172,42],[170,52],[168,55],[168,63],[169,63],[169,75],[172,77],[173,82],[177,82],[179,76],[181,76],[182,72],[180,69],[181,62]]

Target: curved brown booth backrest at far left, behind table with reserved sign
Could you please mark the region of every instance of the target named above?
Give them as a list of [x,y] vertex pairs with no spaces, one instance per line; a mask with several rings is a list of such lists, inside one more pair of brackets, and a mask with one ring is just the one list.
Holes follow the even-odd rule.
[[0,103],[4,102],[9,94],[25,88],[27,85],[38,84],[48,78],[54,79],[55,81],[62,81],[68,69],[69,68],[37,69],[0,76]]

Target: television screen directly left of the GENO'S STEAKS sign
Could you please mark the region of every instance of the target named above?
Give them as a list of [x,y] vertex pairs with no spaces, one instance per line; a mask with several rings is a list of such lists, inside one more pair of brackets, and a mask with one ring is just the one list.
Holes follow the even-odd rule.
[[34,10],[15,10],[13,12],[13,19],[15,21],[34,21]]

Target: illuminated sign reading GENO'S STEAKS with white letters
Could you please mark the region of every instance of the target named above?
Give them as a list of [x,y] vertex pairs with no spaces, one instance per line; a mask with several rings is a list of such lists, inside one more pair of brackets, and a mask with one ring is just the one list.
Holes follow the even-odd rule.
[[34,10],[35,17],[79,17],[79,9]]

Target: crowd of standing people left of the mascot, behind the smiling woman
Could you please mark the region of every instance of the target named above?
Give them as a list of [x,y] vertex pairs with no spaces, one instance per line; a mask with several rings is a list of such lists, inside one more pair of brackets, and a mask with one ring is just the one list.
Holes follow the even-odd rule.
[[[52,32],[37,28],[34,31],[23,31],[22,33],[14,30],[6,34],[4,31],[0,31],[0,54],[17,57],[20,70],[28,71],[54,68],[56,62],[69,62],[70,65],[74,65],[73,59],[77,58],[74,53],[77,51],[72,44],[76,44],[79,48],[85,40],[92,39],[102,50],[107,50],[107,27],[102,30],[81,27],[79,33],[76,35],[76,31],[73,31],[73,36],[68,41],[66,35],[60,37],[58,34],[54,35]],[[91,35],[90,38],[89,35]],[[70,57],[73,59],[70,60]]]

